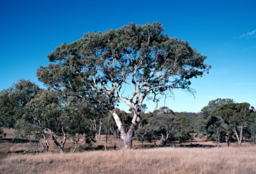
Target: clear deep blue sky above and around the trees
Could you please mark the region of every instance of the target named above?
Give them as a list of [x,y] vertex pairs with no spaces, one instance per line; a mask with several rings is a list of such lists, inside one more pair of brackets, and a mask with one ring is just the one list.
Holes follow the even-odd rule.
[[[192,81],[195,98],[174,91],[162,101],[173,111],[198,112],[213,99],[256,107],[256,1],[14,1],[0,3],[0,91],[35,73],[47,54],[89,31],[159,21],[170,37],[189,41],[212,66]],[[147,101],[149,111],[154,103]],[[121,105],[122,106],[122,105]],[[126,110],[126,109],[125,109]]]

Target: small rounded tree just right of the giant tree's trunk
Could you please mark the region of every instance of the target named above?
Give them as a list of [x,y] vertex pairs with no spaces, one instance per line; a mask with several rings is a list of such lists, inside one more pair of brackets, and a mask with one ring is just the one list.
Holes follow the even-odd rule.
[[161,140],[162,145],[166,145],[167,141],[182,142],[191,139],[189,117],[177,115],[169,107],[161,107],[145,115],[147,119],[141,121],[135,133],[137,140],[142,143]]

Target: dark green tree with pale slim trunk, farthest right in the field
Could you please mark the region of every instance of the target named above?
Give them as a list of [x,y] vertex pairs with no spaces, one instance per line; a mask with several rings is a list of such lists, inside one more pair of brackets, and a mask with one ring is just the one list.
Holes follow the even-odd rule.
[[242,143],[244,130],[249,128],[256,119],[256,113],[249,103],[224,103],[215,107],[211,116],[223,118],[228,125],[228,130],[235,133],[239,145]]

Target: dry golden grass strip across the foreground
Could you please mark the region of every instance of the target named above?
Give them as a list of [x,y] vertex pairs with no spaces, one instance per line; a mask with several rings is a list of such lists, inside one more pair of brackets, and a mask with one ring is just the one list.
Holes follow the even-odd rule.
[[0,173],[256,173],[256,147],[8,155]]

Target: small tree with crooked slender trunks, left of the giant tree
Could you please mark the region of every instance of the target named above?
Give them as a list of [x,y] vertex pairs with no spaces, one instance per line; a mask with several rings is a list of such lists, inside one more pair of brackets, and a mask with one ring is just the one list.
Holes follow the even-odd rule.
[[[49,143],[47,139],[51,137],[59,152],[63,153],[64,145],[67,139],[65,125],[62,121],[63,109],[59,99],[54,91],[41,91],[31,99],[25,106],[25,111],[15,125],[17,133],[21,135],[33,134],[38,140],[43,136],[45,145],[40,141],[43,149],[48,150]],[[24,132],[25,131],[25,132]],[[56,139],[56,134],[63,136],[61,144]]]

